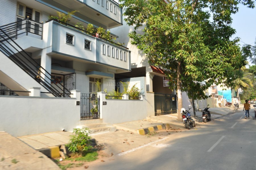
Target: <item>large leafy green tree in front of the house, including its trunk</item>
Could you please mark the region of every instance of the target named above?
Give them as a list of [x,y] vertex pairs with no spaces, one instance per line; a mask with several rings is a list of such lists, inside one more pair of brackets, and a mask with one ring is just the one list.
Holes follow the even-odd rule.
[[[231,27],[231,14],[238,11],[239,3],[253,8],[253,1],[119,2],[127,16],[125,21],[135,29],[129,33],[131,43],[143,50],[150,63],[165,70],[170,83],[175,83],[179,120],[182,91],[197,90],[193,93],[204,97],[204,89],[213,83],[232,87],[234,70],[245,65],[245,58],[237,44],[239,39],[230,40],[235,33]],[[203,81],[205,86],[198,85],[197,82]]]

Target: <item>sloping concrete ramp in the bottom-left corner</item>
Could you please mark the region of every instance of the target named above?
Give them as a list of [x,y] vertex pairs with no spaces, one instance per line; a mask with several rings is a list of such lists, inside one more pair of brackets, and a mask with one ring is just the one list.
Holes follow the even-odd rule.
[[6,132],[0,132],[0,141],[0,169],[59,169],[47,156]]

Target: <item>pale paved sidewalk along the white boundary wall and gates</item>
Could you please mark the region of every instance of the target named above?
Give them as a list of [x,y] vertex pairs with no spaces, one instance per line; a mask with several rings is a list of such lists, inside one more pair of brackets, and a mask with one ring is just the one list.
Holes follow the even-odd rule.
[[[209,111],[211,113],[212,119],[227,115],[232,112],[236,112],[232,108],[210,108]],[[193,113],[192,113],[192,115],[193,115]],[[197,111],[196,115],[197,116],[194,118],[194,120],[196,121],[197,126],[205,124],[205,123],[202,123],[202,120],[201,120],[202,112]],[[167,129],[165,129],[165,126],[163,124],[164,125],[168,124],[170,128],[168,127]],[[177,120],[177,114],[152,116],[152,117],[148,117],[144,120],[137,120],[137,121],[133,121],[133,122],[124,122],[124,123],[120,123],[120,124],[114,124],[113,126],[116,126],[117,131],[111,132],[111,133],[105,133],[105,134],[101,134],[101,135],[93,135],[92,138],[95,138],[99,143],[104,143],[104,145],[108,145],[108,147],[111,147],[113,149],[113,147],[117,147],[116,144],[118,144],[120,142],[126,143],[126,141],[120,141],[120,139],[122,139],[122,138],[124,138],[124,139],[127,138],[127,140],[130,140],[130,141],[136,140],[138,142],[141,141],[142,143],[143,143],[143,141],[145,142],[145,140],[147,140],[147,139],[145,138],[145,136],[138,134],[139,129],[151,128],[151,129],[155,130],[155,128],[152,128],[152,127],[158,127],[158,128],[160,127],[160,131],[168,130],[168,131],[175,132],[175,131],[187,130],[185,128],[183,122]],[[156,130],[159,130],[159,129],[156,129]],[[149,132],[149,130],[148,130],[148,132]],[[42,150],[44,148],[50,148],[53,146],[55,146],[55,147],[61,146],[61,145],[65,145],[65,144],[69,143],[69,139],[70,139],[69,136],[71,134],[72,134],[72,132],[52,132],[52,133],[43,133],[43,134],[38,134],[38,135],[22,136],[22,137],[18,137],[18,139],[20,139],[24,143],[28,144],[32,148],[34,148],[35,149],[35,150],[33,150],[34,152],[38,152],[36,150]],[[148,133],[144,133],[144,134],[147,135]],[[18,139],[15,138],[15,140],[19,141]],[[152,140],[152,138],[151,138],[151,140]],[[21,141],[19,141],[19,142],[21,142]],[[148,140],[148,142],[149,141],[150,140]],[[22,143],[22,144],[25,145],[24,143]],[[130,145],[132,146],[133,143],[130,142]],[[11,144],[10,146],[13,146],[13,144]],[[15,144],[15,146],[16,146],[16,144]],[[29,146],[27,146],[27,147],[29,147]],[[128,146],[128,147],[130,147],[130,146]],[[2,148],[4,148],[4,147],[2,147]],[[30,148],[30,149],[32,149],[32,148]],[[13,149],[13,147],[12,148],[9,147],[8,149],[5,149],[5,150],[7,151],[9,149],[13,150],[13,152],[15,152],[15,150],[16,150],[16,149]],[[0,154],[0,156],[1,156],[1,154]]]

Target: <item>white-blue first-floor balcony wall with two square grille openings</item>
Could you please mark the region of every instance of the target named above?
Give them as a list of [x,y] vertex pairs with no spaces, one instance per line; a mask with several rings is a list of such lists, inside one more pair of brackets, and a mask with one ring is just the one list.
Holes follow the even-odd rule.
[[131,70],[128,48],[82,32],[76,27],[63,25],[56,21],[44,24],[43,40],[52,46],[58,59],[98,63],[117,72]]

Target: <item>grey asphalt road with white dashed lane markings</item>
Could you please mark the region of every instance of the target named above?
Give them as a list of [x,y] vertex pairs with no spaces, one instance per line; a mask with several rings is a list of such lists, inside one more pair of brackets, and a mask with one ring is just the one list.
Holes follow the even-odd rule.
[[191,130],[162,134],[88,169],[256,169],[256,119],[253,109],[250,113],[250,119],[244,119],[240,109]]

